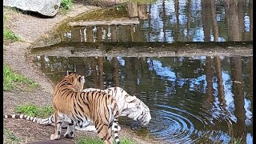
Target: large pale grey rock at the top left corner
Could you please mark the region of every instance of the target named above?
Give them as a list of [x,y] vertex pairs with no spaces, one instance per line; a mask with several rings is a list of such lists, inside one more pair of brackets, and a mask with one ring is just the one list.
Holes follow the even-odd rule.
[[3,6],[16,7],[20,10],[34,11],[53,17],[57,14],[60,0],[4,0]]

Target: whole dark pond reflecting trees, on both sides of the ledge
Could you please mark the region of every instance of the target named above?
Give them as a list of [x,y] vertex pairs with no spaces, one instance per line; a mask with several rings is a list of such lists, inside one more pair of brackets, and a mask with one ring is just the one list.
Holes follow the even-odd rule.
[[[252,54],[240,54],[238,50],[232,56],[138,56],[131,51],[128,56],[118,51],[123,42],[130,45],[129,49],[136,45],[134,50],[140,50],[143,46],[137,44],[142,43],[149,50],[150,42],[163,42],[167,46],[175,42],[186,45],[186,42],[252,41],[252,1],[227,2],[128,2],[107,13],[114,10],[120,15],[113,17],[138,18],[139,24],[70,27],[66,23],[56,30],[54,38],[48,39],[52,42],[50,45],[32,50],[33,60],[54,83],[66,74],[66,70],[71,70],[85,75],[85,87],[120,86],[136,95],[150,107],[149,126],[141,128],[124,118],[119,123],[130,126],[140,138],[154,138],[161,143],[229,143],[234,140],[252,143]],[[234,6],[237,6],[237,14],[231,10]],[[82,15],[74,21],[86,19],[88,17]],[[118,53],[112,51],[112,55],[107,55],[109,48],[98,49],[105,43],[116,46]],[[202,47],[210,45],[206,43]],[[90,46],[93,48],[88,48]],[[151,49],[154,49],[153,43]],[[65,50],[68,54],[63,53]],[[86,50],[92,54],[83,54]]]

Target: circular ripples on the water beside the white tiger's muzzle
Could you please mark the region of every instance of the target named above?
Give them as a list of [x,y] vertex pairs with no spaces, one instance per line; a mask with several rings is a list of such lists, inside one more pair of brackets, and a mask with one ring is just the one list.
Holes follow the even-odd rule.
[[[161,142],[199,142],[218,131],[206,130],[206,125],[214,126],[213,119],[203,109],[198,115],[176,107],[158,105],[152,111],[152,120],[147,127],[150,134]],[[218,122],[218,121],[217,121]]]

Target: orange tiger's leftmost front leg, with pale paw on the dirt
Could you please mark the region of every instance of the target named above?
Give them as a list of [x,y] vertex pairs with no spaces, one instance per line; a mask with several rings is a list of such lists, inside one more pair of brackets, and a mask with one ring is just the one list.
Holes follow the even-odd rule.
[[50,135],[50,140],[56,140],[61,138],[62,122],[63,122],[63,118],[58,115],[57,110],[54,110],[55,133]]

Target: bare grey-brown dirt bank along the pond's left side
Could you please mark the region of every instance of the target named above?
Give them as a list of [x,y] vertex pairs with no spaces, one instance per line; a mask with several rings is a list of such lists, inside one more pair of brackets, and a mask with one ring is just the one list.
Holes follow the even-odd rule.
[[[3,46],[3,62],[10,68],[27,78],[33,79],[39,84],[39,87],[33,91],[12,90],[3,92],[3,114],[14,114],[14,108],[27,102],[45,106],[52,103],[53,83],[49,78],[31,62],[26,55],[30,46],[43,38],[45,34],[54,30],[63,21],[73,18],[78,14],[82,14],[89,10],[99,9],[97,6],[86,6],[82,4],[74,4],[67,14],[57,14],[54,18],[38,18],[29,14],[10,13],[7,14],[7,27],[22,38],[22,42],[4,42]],[[5,11],[6,9],[4,9]],[[7,12],[8,13],[8,12]],[[152,143],[151,140],[142,140],[134,136],[134,132],[130,128],[121,126],[120,138],[133,138],[138,143]],[[4,128],[13,132],[22,143],[33,142],[38,140],[49,140],[50,134],[54,133],[54,126],[40,126],[34,122],[28,122],[21,119],[4,119]],[[65,130],[62,130],[64,133]],[[93,132],[78,131],[75,137],[80,136],[96,136]],[[64,141],[74,142],[74,139],[63,138]],[[156,142],[154,142],[156,143]]]

